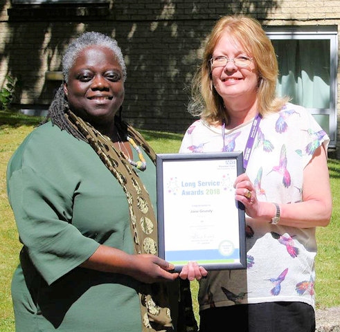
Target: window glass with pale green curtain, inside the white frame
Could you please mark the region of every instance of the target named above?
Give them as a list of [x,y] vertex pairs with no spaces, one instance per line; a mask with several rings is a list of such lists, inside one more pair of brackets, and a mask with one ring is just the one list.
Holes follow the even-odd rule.
[[330,108],[330,40],[272,39],[278,56],[278,95],[310,109]]

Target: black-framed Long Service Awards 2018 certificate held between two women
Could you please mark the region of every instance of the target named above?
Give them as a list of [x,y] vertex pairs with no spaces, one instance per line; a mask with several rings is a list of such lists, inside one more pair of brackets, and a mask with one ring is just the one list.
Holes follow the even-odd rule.
[[242,151],[156,155],[159,257],[175,271],[188,261],[247,267],[244,206],[233,187],[242,172]]

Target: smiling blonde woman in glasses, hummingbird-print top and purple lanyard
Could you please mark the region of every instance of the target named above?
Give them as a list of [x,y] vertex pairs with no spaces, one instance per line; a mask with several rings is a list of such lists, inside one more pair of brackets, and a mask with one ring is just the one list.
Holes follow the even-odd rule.
[[315,331],[315,230],[332,213],[330,139],[306,109],[276,96],[277,77],[256,19],[217,21],[188,107],[199,120],[180,152],[243,151],[234,187],[246,212],[247,269],[199,281],[200,332]]

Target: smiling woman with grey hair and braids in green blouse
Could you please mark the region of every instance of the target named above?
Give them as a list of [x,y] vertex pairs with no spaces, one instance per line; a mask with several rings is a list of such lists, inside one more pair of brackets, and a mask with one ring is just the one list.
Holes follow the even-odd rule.
[[[23,243],[16,331],[195,331],[188,279],[206,270],[188,275],[186,266],[186,283],[175,282],[179,273],[156,255],[154,151],[121,119],[126,67],[116,40],[84,33],[62,71],[46,121],[8,163]],[[179,306],[189,314],[178,316]]]

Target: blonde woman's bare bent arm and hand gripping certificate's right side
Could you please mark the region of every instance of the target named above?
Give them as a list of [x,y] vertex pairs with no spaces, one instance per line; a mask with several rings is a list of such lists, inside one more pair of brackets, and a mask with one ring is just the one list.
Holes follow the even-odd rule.
[[323,146],[318,147],[310,163],[303,171],[301,201],[273,202],[258,201],[256,190],[247,174],[238,176],[234,183],[235,199],[240,201],[248,216],[270,223],[276,215],[276,206],[280,206],[280,225],[296,228],[327,226],[332,216],[332,193],[328,174],[327,152]]

